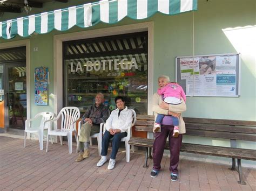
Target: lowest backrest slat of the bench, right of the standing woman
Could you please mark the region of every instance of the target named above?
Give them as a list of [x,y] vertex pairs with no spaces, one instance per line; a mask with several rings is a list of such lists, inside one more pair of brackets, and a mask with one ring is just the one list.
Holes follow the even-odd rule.
[[230,133],[230,132],[215,132],[215,131],[205,131],[205,130],[192,130],[187,129],[184,135],[200,136],[200,137],[215,137],[224,139],[237,139],[237,140],[247,140],[255,142],[256,136],[254,135],[242,135],[240,133]]

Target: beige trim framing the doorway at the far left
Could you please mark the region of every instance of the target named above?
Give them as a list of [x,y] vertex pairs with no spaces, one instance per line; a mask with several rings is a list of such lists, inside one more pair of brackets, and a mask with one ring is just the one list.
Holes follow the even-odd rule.
[[[19,40],[10,43],[1,43],[0,49],[26,46],[26,117],[31,118],[30,102],[30,40]],[[28,135],[29,136],[29,135]]]

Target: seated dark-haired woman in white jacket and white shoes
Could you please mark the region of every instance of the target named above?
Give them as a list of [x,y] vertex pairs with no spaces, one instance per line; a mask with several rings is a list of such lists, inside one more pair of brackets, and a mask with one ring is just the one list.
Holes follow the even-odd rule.
[[125,106],[124,98],[117,96],[114,101],[116,102],[117,109],[113,110],[106,121],[106,131],[102,138],[102,157],[100,158],[97,166],[102,166],[107,161],[107,148],[109,141],[112,140],[112,152],[110,154],[109,165],[107,169],[113,169],[116,164],[116,155],[118,152],[120,140],[127,136],[127,129],[132,124],[132,111]]

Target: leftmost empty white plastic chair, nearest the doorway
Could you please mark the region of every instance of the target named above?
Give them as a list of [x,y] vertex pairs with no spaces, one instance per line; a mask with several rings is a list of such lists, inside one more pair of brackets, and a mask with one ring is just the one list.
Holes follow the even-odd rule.
[[[32,121],[35,121],[38,117],[41,117],[41,123],[39,125],[32,125]],[[44,129],[48,129],[50,127],[50,119],[54,117],[54,114],[52,112],[40,112],[35,117],[31,119],[26,119],[25,121],[25,130],[24,130],[24,148],[26,147],[26,136],[27,133],[36,133],[38,135],[39,139],[39,148],[40,150],[43,150],[44,144]],[[29,136],[30,139],[31,135]]]

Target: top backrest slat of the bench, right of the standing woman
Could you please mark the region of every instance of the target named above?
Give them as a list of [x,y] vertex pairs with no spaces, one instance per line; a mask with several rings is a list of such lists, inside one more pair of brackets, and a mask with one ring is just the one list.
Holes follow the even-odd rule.
[[256,126],[256,121],[239,121],[239,120],[230,120],[230,119],[206,119],[206,118],[192,118],[192,117],[184,117],[183,119],[185,123]]

